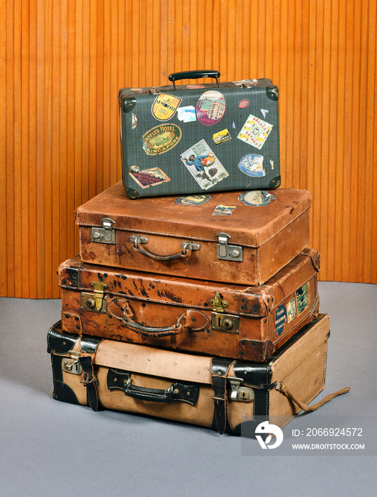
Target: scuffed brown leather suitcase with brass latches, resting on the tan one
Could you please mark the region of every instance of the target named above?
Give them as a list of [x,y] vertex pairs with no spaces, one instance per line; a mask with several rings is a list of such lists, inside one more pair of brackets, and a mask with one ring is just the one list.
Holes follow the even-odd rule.
[[162,348],[265,361],[317,315],[320,254],[305,249],[261,286],[95,266],[58,269],[62,327]]

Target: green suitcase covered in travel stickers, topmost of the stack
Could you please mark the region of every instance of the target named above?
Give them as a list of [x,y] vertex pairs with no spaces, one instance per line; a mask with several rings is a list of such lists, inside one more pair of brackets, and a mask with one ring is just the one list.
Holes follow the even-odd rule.
[[[176,86],[213,77],[216,84]],[[280,185],[278,87],[219,83],[218,71],[176,72],[173,85],[119,92],[128,197],[272,189]]]

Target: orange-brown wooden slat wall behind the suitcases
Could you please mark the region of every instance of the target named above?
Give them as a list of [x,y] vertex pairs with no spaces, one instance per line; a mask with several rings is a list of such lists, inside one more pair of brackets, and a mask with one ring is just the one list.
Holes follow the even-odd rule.
[[[74,210],[120,180],[118,89],[271,77],[322,280],[377,283],[375,0],[0,0],[0,295],[59,297]],[[374,215],[373,215],[374,214]]]

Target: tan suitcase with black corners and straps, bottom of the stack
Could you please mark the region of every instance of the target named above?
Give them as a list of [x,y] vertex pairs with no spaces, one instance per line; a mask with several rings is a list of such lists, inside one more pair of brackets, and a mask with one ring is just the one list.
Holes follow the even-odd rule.
[[64,332],[47,336],[53,397],[64,402],[142,413],[240,433],[246,423],[281,427],[325,386],[329,318],[320,315],[269,361],[245,363]]

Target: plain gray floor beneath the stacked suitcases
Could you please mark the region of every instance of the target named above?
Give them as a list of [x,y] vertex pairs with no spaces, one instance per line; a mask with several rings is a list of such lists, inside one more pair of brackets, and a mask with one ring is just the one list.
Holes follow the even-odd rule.
[[[317,400],[351,391],[304,423],[369,415],[377,425],[377,285],[320,283],[319,293],[331,337]],[[1,496],[377,495],[377,447],[274,457],[247,440],[255,455],[242,455],[243,437],[53,400],[46,335],[59,317],[60,300],[0,299]]]

